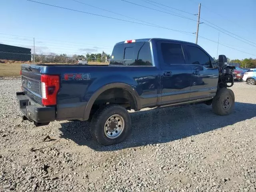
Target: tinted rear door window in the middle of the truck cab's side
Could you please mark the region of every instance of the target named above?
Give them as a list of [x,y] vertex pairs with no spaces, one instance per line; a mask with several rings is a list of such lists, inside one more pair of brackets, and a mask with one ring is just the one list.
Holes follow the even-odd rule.
[[161,43],[162,57],[166,64],[185,64],[180,44]]

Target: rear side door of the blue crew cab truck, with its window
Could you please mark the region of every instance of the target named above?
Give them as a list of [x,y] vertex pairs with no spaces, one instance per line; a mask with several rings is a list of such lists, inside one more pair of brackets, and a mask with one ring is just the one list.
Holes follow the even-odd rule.
[[161,104],[188,101],[192,70],[186,64],[182,43],[159,41],[158,50],[162,70]]

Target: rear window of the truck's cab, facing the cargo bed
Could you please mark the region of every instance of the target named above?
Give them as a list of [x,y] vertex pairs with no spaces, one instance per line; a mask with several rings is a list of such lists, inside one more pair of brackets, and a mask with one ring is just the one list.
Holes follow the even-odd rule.
[[149,42],[118,44],[114,47],[111,65],[152,66]]

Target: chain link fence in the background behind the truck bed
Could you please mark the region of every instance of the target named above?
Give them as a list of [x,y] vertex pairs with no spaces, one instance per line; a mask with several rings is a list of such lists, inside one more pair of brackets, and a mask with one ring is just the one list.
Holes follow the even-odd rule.
[[[109,59],[87,58],[88,64],[108,65]],[[65,55],[39,55],[14,52],[0,52],[0,63],[28,64],[78,64],[78,58]]]

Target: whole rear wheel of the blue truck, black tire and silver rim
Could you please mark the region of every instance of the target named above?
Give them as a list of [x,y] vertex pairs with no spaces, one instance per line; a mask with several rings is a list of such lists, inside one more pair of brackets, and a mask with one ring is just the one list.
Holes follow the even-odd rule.
[[102,145],[122,142],[131,132],[129,112],[116,104],[100,108],[92,117],[91,134]]

